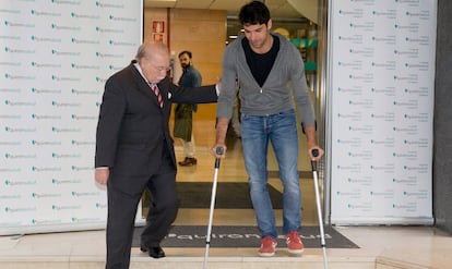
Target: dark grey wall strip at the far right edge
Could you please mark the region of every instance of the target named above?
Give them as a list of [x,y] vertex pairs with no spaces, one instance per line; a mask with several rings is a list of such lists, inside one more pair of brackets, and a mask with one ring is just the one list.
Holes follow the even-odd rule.
[[452,234],[452,2],[438,0],[437,68],[433,126],[433,213],[436,224]]

